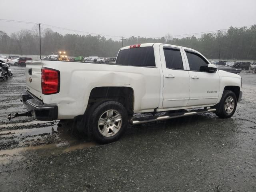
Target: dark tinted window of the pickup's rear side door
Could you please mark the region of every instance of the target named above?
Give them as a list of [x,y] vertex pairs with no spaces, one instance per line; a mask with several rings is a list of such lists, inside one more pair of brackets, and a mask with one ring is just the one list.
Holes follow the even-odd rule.
[[183,70],[183,62],[179,49],[164,48],[166,68]]

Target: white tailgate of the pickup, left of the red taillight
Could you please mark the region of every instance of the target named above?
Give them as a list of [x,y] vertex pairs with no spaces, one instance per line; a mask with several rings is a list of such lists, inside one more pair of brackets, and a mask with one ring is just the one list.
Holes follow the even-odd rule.
[[41,90],[41,68],[42,62],[27,61],[26,62],[26,87],[34,96],[42,100]]

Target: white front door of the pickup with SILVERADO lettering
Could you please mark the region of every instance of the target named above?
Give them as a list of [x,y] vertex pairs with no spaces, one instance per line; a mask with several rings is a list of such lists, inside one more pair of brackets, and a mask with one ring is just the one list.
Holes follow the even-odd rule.
[[202,106],[216,104],[220,90],[218,72],[207,72],[209,62],[196,52],[185,51],[190,76],[190,93],[187,106]]

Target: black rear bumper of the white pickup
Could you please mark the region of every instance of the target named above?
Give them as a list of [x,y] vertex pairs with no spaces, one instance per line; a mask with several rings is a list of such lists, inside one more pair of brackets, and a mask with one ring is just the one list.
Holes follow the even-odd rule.
[[36,119],[41,121],[57,120],[58,106],[44,104],[41,100],[25,90],[21,91],[20,95],[24,106]]

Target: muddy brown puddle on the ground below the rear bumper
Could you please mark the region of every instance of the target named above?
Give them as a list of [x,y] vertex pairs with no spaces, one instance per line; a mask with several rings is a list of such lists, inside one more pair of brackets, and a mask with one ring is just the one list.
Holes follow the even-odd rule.
[[[56,133],[57,132],[57,133]],[[51,154],[61,154],[66,152],[71,152],[74,150],[81,150],[84,148],[90,148],[96,146],[95,142],[86,142],[83,138],[78,138],[71,134],[70,124],[64,123],[61,127],[58,127],[57,124],[53,126],[46,126],[41,128],[31,128],[31,129],[20,129],[20,130],[10,130],[0,132],[0,139],[3,136],[12,135],[12,136],[27,136],[26,141],[30,140],[29,138],[41,138],[40,134],[56,134],[56,141],[58,143],[52,144],[43,144],[37,146],[28,146],[28,147],[19,147],[9,150],[0,150],[0,164],[6,164],[10,160],[18,160],[22,158],[22,152],[36,152],[38,154],[51,155]],[[18,138],[17,138],[18,139]],[[34,140],[34,139],[32,139]],[[26,142],[25,141],[25,142]],[[19,140],[19,142],[21,142]],[[14,158],[15,156],[15,158]]]

